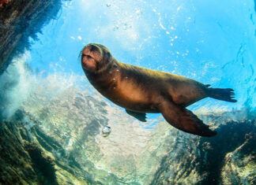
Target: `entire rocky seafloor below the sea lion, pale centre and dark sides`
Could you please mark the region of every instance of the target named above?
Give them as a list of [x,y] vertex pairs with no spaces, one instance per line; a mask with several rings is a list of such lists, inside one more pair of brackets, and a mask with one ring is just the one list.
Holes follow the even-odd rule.
[[256,184],[256,120],[246,112],[201,115],[218,131],[203,138],[141,123],[88,91],[45,88],[1,121],[2,184]]

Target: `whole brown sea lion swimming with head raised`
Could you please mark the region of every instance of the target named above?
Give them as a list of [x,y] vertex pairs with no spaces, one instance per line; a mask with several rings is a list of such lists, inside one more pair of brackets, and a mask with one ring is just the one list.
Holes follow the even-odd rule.
[[169,124],[194,135],[211,137],[216,131],[186,106],[206,97],[236,102],[230,88],[209,88],[183,76],[123,64],[97,43],[81,51],[81,66],[92,86],[126,113],[141,121],[145,113],[162,113]]

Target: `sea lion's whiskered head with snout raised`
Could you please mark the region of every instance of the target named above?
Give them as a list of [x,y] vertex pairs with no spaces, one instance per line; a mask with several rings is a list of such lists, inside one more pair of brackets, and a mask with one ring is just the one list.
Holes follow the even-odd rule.
[[81,66],[85,72],[100,72],[112,60],[111,52],[101,44],[89,43],[81,51]]

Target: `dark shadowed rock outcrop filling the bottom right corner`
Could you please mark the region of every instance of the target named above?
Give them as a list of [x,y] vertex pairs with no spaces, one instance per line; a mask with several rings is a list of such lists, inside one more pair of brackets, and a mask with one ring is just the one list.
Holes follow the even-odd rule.
[[213,138],[178,136],[151,184],[255,184],[256,120],[230,120],[216,131]]

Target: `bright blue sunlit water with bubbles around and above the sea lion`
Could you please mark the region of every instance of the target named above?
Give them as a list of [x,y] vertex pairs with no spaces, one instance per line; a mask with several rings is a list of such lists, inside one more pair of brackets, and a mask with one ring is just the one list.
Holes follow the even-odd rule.
[[124,63],[235,90],[237,103],[206,98],[190,109],[254,109],[255,21],[253,0],[73,0],[31,39],[26,62],[43,76],[84,76],[78,54],[101,43]]

